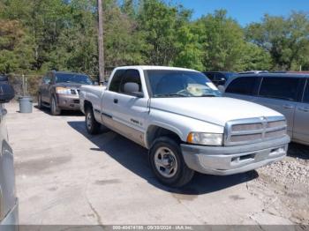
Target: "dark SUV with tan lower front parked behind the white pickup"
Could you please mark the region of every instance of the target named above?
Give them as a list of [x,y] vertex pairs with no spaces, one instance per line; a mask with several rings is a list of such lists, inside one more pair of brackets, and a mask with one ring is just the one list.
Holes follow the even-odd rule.
[[39,86],[38,108],[50,108],[51,115],[60,115],[62,110],[79,110],[79,87],[93,84],[85,74],[49,71]]

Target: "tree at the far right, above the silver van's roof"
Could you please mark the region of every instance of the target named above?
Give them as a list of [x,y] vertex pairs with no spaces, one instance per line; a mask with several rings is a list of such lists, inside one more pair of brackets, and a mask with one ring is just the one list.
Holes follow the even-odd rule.
[[246,28],[248,41],[265,48],[270,53],[275,69],[298,70],[308,63],[309,18],[303,12],[293,12],[290,17],[265,15],[261,23]]

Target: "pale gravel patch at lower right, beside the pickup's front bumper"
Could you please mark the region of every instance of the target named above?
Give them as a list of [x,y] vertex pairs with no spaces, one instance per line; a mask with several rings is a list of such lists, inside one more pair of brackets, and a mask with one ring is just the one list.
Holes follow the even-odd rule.
[[290,144],[284,160],[257,172],[259,177],[247,188],[263,201],[263,212],[309,224],[309,147]]

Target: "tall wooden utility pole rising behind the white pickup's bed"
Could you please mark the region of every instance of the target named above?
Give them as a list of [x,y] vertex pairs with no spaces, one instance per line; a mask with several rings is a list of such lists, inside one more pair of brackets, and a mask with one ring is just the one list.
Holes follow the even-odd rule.
[[98,14],[99,14],[99,36],[98,36],[98,48],[99,48],[99,73],[100,83],[105,80],[104,73],[104,46],[103,46],[103,9],[102,0],[98,0]]

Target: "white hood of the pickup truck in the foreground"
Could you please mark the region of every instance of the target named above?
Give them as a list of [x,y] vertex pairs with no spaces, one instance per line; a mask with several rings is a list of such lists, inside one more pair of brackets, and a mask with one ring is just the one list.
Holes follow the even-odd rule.
[[225,126],[230,120],[283,116],[273,109],[227,97],[153,98],[150,108]]

